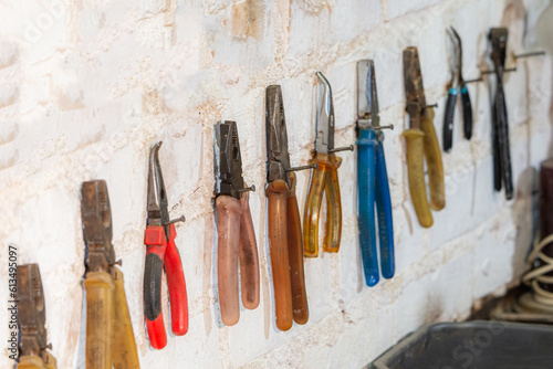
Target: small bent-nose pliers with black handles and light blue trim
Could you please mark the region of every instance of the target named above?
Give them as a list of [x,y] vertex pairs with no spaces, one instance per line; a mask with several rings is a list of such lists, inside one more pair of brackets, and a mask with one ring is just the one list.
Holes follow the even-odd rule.
[[470,103],[469,89],[462,77],[462,43],[457,31],[451,27],[446,30],[451,48],[449,67],[451,70],[451,81],[449,83],[448,101],[446,103],[446,115],[444,117],[444,151],[449,151],[453,145],[453,115],[457,104],[457,95],[461,93],[462,119],[465,138],[472,136],[472,106]]

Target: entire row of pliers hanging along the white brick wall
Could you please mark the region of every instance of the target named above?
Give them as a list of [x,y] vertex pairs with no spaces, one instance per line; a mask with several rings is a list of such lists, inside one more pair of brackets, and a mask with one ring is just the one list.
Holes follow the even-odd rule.
[[[445,151],[452,147],[453,113],[459,93],[465,138],[471,138],[472,108],[467,83],[480,81],[463,80],[461,39],[452,28],[447,32],[453,48],[451,82],[444,120]],[[492,108],[494,188],[499,191],[504,186],[505,196],[510,199],[513,189],[502,82],[503,73],[507,72],[507,29],[492,29],[490,42],[493,73],[497,76]],[[407,150],[408,186],[418,222],[421,226],[429,228],[434,223],[431,210],[439,211],[446,205],[441,152],[434,127],[436,105],[427,105],[417,49],[407,48],[403,62],[406,109],[409,115],[409,127],[403,133]],[[312,159],[301,167],[292,167],[290,162],[281,87],[272,85],[265,91],[268,236],[275,324],[280,330],[290,329],[293,321],[305,324],[309,319],[303,259],[319,255],[319,222],[323,194],[326,198],[323,251],[338,252],[342,235],[338,182],[342,159],[336,152],[354,148],[353,145],[334,147],[335,118],[331,85],[321,72],[316,73],[316,137]],[[379,122],[373,61],[363,60],[357,63],[356,91],[358,239],[365,281],[368,286],[374,286],[379,281],[380,271],[385,278],[392,278],[395,273],[392,200],[383,146],[383,129],[393,129],[394,126],[382,126]],[[260,302],[258,246],[249,208],[249,191],[254,191],[255,187],[248,187],[242,178],[236,122],[218,123],[215,136],[218,302],[222,323],[232,326],[240,318],[239,291],[246,308],[254,309]],[[144,317],[147,336],[154,349],[161,349],[167,345],[161,307],[164,270],[169,291],[171,331],[175,336],[182,336],[188,331],[185,274],[175,244],[175,223],[185,221],[185,217],[175,220],[169,218],[167,192],[158,157],[160,147],[161,143],[157,143],[152,146],[149,152],[148,218],[144,235]],[[429,196],[425,180],[425,161],[428,169]],[[312,170],[303,232],[295,193],[298,178],[294,171],[298,170]],[[123,273],[116,266],[121,261],[116,261],[112,244],[112,213],[106,182],[83,182],[80,198],[86,244],[86,368],[107,369],[112,368],[112,365],[116,368],[138,368],[138,355],[123,287]],[[18,368],[55,368],[55,359],[46,351],[44,296],[38,265],[19,266],[18,283],[22,355]],[[36,366],[31,366],[33,363]]]

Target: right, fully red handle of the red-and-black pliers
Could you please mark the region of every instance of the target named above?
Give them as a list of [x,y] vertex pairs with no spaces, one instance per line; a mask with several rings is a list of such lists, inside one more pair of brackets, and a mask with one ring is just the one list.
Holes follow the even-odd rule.
[[165,251],[165,274],[169,287],[169,299],[171,305],[171,330],[175,336],[184,336],[188,331],[188,298],[186,295],[185,272],[178,253],[175,238],[177,231],[175,224],[169,225],[169,240]]

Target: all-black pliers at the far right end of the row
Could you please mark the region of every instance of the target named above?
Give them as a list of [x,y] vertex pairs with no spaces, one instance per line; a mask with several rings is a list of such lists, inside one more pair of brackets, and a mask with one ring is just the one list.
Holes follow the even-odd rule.
[[511,170],[511,148],[509,144],[509,123],[507,117],[503,73],[507,57],[508,31],[504,28],[491,29],[488,35],[491,42],[491,60],[495,72],[495,96],[492,106],[492,151],[493,183],[495,191],[504,186],[505,198],[513,198]]

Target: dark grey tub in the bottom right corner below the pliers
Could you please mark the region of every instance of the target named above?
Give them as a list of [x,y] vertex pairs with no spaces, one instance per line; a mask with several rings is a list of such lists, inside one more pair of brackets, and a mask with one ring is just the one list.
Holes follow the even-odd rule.
[[368,368],[552,368],[552,345],[551,326],[494,320],[441,323],[408,335]]

